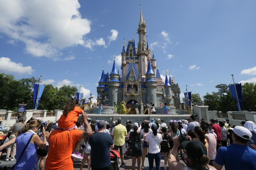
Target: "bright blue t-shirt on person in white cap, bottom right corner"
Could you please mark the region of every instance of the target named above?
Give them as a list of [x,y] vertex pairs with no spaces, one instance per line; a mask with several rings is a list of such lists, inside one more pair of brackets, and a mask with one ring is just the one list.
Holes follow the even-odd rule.
[[214,160],[219,165],[225,165],[226,170],[256,169],[256,151],[247,145],[231,144],[219,148]]

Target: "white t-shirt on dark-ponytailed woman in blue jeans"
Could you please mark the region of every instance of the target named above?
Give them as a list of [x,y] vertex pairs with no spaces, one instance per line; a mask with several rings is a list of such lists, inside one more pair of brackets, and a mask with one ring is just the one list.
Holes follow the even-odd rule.
[[147,134],[146,142],[149,142],[148,153],[157,154],[160,152],[159,144],[163,141],[162,134],[157,133],[154,136],[153,133]]

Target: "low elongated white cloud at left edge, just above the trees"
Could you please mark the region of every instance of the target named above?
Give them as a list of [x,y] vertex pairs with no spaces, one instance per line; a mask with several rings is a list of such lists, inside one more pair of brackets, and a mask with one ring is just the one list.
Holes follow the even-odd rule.
[[15,63],[7,57],[0,58],[0,72],[31,75],[34,71],[31,66],[23,66],[22,63]]

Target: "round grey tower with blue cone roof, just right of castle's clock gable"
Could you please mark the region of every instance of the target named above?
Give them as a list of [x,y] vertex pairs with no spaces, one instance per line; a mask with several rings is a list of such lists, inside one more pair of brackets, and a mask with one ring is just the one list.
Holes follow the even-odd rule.
[[150,60],[148,60],[148,70],[145,74],[146,81],[144,82],[144,85],[146,87],[146,101],[148,103],[152,102],[156,105],[156,88],[157,88],[157,82],[155,80],[155,73],[153,71],[153,68],[151,66]]

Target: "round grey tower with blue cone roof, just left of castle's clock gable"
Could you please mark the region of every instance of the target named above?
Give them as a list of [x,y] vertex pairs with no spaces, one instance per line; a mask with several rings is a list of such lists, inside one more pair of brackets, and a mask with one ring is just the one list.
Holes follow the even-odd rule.
[[120,86],[119,74],[116,69],[116,55],[112,71],[109,76],[110,80],[108,81],[108,106],[114,106],[114,102],[117,103],[118,88]]

